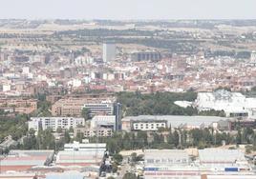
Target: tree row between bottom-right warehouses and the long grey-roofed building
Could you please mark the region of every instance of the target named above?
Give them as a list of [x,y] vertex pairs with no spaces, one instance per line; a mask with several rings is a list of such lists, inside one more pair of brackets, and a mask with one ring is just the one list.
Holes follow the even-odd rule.
[[[237,133],[206,129],[160,129],[160,131],[115,132],[111,138],[99,137],[98,142],[107,143],[110,153],[130,149],[186,149],[211,148],[222,145],[250,145],[256,150],[256,132],[239,128]],[[92,137],[90,142],[96,142]]]

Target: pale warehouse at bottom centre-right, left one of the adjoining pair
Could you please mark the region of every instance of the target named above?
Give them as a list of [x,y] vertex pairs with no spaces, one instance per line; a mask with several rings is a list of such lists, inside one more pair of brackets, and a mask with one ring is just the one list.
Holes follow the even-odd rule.
[[200,179],[199,168],[191,166],[185,150],[149,149],[145,150],[145,179],[182,178]]

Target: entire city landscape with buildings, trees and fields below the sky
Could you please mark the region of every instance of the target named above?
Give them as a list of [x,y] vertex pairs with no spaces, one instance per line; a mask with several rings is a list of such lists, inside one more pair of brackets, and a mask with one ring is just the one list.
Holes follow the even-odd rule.
[[0,20],[0,179],[256,178],[256,20]]

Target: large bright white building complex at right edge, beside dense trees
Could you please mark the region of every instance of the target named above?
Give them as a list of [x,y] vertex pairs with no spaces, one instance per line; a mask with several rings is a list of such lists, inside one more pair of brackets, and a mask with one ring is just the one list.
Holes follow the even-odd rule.
[[199,92],[194,106],[199,110],[224,110],[226,116],[256,118],[256,98],[246,98],[240,92],[220,89]]

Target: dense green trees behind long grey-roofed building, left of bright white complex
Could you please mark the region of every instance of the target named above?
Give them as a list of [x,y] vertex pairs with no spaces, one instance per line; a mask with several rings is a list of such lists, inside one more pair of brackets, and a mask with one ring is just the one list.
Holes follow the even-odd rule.
[[156,92],[142,94],[136,92],[117,93],[117,102],[122,104],[124,116],[138,115],[211,115],[224,116],[224,110],[199,111],[193,107],[181,108],[175,101],[195,101],[197,92],[189,90],[184,93]]

